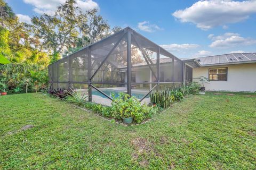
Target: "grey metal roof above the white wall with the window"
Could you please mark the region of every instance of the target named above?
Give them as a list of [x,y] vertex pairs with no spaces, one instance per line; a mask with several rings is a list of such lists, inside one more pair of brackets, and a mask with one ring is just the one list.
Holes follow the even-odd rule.
[[195,58],[200,66],[256,63],[256,53],[234,53]]

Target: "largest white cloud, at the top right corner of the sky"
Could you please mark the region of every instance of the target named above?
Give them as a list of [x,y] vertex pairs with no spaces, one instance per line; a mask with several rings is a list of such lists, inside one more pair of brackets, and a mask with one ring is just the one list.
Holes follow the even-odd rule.
[[191,22],[203,30],[228,23],[236,23],[256,13],[256,1],[209,0],[198,1],[185,10],[177,10],[172,15],[181,22]]

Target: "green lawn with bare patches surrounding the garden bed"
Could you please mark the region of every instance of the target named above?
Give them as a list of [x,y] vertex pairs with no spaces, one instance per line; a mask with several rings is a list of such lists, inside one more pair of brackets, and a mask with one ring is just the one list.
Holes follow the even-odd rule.
[[189,96],[128,127],[42,94],[0,96],[0,169],[256,169],[245,95]]

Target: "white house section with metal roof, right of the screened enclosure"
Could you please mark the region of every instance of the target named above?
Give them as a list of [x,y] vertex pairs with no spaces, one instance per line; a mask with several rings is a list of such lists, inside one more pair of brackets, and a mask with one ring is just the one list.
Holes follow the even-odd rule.
[[[198,57],[183,61],[185,75],[193,81],[204,76],[209,79],[205,89],[209,91],[256,91],[256,53],[223,54]],[[196,65],[195,65],[196,64]],[[189,77],[189,78],[188,78]]]

